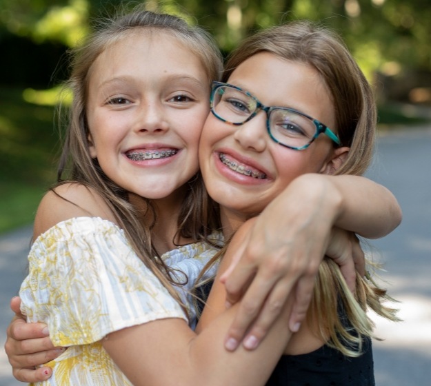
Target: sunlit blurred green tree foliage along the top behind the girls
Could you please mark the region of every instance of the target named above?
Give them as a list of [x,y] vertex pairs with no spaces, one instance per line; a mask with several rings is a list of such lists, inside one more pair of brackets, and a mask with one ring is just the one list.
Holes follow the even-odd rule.
[[[131,8],[125,0],[0,0],[0,44],[6,31],[41,43],[73,46],[89,19]],[[289,19],[314,19],[337,30],[370,77],[403,68],[431,70],[429,0],[147,0],[149,8],[186,15],[229,52],[246,35]]]

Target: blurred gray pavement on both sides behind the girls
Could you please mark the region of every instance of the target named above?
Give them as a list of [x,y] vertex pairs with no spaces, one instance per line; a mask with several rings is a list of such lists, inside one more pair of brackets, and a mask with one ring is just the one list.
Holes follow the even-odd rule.
[[[385,263],[390,294],[403,323],[374,317],[377,386],[431,385],[431,127],[383,133],[368,173],[397,196],[403,223],[371,241],[373,256]],[[10,375],[4,353],[10,298],[26,273],[31,227],[0,236],[0,385],[22,385]]]

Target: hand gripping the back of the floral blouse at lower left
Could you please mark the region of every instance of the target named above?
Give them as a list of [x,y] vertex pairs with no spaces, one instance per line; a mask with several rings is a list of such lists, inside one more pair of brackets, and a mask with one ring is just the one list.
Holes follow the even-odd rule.
[[26,318],[19,310],[20,304],[18,297],[10,301],[15,316],[8,326],[5,351],[12,365],[12,374],[21,382],[47,380],[52,375],[50,367],[34,367],[57,358],[64,348],[52,345],[46,324],[26,323]]

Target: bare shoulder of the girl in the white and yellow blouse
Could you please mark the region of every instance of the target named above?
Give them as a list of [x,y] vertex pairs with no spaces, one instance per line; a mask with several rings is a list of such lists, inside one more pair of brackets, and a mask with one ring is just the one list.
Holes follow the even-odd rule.
[[65,183],[43,196],[34,219],[34,238],[61,221],[74,217],[101,217],[115,222],[114,214],[92,188],[79,183]]

